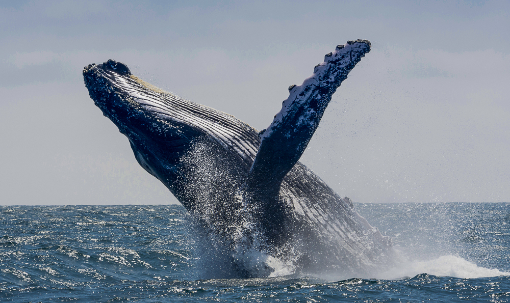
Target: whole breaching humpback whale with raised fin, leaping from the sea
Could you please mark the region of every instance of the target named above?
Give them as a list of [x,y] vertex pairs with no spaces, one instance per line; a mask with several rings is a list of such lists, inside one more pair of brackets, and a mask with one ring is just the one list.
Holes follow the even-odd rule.
[[[299,158],[349,71],[370,51],[348,41],[325,55],[266,129],[165,92],[108,60],[84,68],[85,86],[124,134],[136,160],[159,179],[203,231],[221,243],[239,277],[296,271],[367,276],[391,259],[392,244]],[[219,246],[216,246],[216,249]],[[266,258],[266,259],[264,259]],[[286,263],[286,264],[287,264]]]

